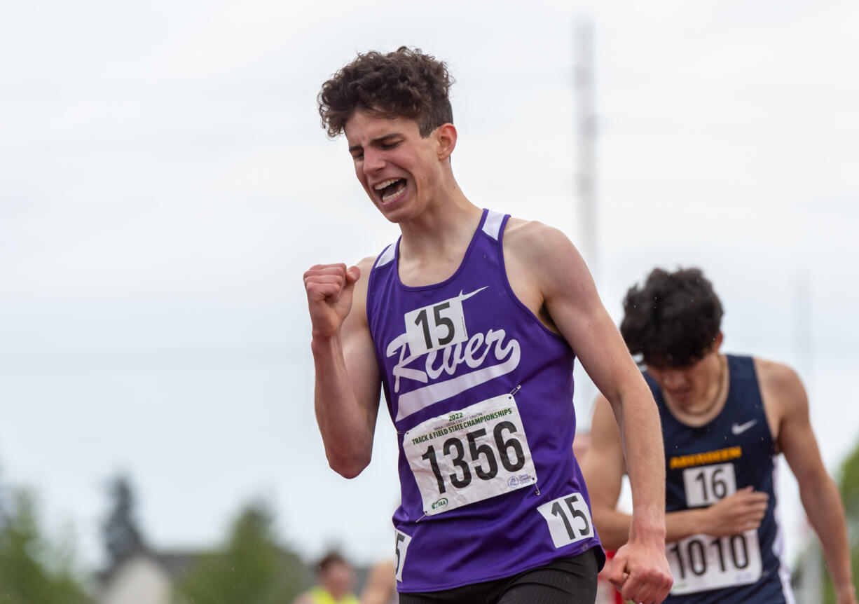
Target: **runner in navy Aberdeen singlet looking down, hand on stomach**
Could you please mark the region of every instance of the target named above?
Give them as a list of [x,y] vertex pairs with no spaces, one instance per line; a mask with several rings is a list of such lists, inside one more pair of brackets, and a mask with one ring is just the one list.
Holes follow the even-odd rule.
[[[783,454],[819,535],[839,604],[856,604],[844,508],[820,459],[805,390],[781,363],[722,354],[722,303],[702,271],[655,269],[620,326],[659,406],[666,461],[667,602],[793,602],[780,558],[776,463]],[[624,544],[624,473],[611,408],[598,397],[583,462],[606,547]]]

